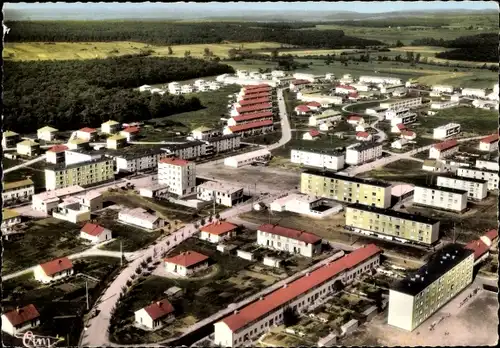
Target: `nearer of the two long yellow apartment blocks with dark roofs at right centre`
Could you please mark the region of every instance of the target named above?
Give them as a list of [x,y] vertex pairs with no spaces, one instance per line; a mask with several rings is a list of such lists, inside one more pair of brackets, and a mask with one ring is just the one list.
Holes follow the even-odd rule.
[[439,221],[359,203],[345,210],[345,225],[354,232],[380,239],[431,245],[439,239]]

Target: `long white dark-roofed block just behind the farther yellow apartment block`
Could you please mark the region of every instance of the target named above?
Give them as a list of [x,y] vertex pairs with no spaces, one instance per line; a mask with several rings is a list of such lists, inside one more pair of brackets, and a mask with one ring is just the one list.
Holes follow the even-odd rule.
[[290,154],[290,161],[308,167],[324,168],[330,170],[340,170],[344,168],[345,154],[335,151],[311,151],[293,149]]

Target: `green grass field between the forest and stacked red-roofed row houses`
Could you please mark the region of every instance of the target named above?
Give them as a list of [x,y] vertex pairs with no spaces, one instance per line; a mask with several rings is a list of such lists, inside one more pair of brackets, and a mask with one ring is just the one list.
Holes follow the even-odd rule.
[[[227,118],[228,95],[234,94],[240,90],[240,86],[230,85],[225,86],[218,91],[210,91],[203,93],[193,93],[196,95],[204,109],[183,112],[172,116],[157,120],[168,120],[177,122],[186,126],[189,130],[200,126],[221,127],[224,122],[221,117]],[[189,95],[188,95],[189,96]]]

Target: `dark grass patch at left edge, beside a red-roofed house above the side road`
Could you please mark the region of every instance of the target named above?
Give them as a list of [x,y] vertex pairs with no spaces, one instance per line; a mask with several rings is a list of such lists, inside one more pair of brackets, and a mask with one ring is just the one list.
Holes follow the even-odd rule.
[[48,218],[31,224],[23,238],[5,241],[2,271],[9,274],[88,248],[78,225]]

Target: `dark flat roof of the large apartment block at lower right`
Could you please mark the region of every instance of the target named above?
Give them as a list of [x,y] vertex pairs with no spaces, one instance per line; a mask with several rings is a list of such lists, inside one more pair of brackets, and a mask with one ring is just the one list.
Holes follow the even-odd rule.
[[395,282],[391,290],[415,296],[472,254],[459,244],[448,244],[434,253],[418,271]]

